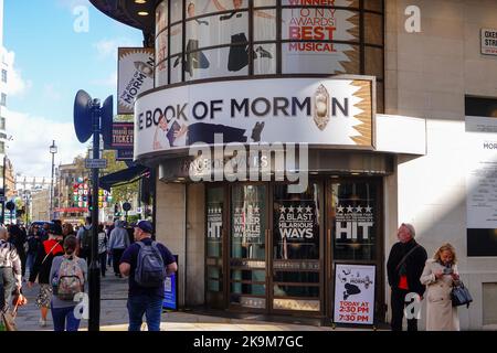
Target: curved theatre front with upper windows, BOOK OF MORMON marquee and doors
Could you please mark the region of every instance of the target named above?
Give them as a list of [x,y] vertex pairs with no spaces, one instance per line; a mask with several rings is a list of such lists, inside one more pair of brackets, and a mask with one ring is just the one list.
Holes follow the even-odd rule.
[[[384,321],[394,156],[379,148],[382,23],[368,1],[158,4],[156,88],[135,104],[135,159],[158,170],[157,228],[184,259],[182,304]],[[368,288],[363,322],[335,310]]]

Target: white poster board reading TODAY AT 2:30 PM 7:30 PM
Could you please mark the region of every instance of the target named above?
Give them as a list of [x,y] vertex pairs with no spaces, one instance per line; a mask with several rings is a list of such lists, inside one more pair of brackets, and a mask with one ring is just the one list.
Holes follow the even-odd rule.
[[335,265],[335,323],[373,324],[374,265]]

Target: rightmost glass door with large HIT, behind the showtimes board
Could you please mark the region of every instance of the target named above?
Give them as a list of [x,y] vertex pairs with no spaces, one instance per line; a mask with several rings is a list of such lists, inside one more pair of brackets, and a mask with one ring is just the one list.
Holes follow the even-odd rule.
[[328,185],[328,314],[335,304],[335,264],[376,265],[376,315],[384,311],[381,179],[332,179]]

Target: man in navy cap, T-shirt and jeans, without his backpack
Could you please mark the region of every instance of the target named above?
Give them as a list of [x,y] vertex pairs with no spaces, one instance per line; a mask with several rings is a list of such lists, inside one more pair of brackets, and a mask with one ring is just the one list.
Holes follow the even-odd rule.
[[[148,221],[140,221],[135,226],[135,240],[123,254],[120,259],[119,270],[123,276],[129,276],[129,291],[128,291],[128,314],[129,314],[129,331],[139,331],[144,320],[144,314],[147,318],[148,331],[160,330],[160,314],[162,312],[162,302],[165,298],[163,281],[157,286],[150,287],[141,286],[135,280],[135,271],[137,269],[138,255],[144,246],[152,246],[160,253],[167,275],[173,274],[178,270],[178,265],[171,252],[158,242],[154,242],[151,234],[154,227]],[[157,253],[156,253],[157,254]],[[165,278],[166,279],[166,278]]]

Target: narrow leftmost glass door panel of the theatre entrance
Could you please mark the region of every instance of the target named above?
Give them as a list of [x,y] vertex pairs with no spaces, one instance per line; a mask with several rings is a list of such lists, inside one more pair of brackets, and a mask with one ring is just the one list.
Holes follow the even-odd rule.
[[214,309],[224,309],[224,188],[207,189],[205,302],[209,308]]

